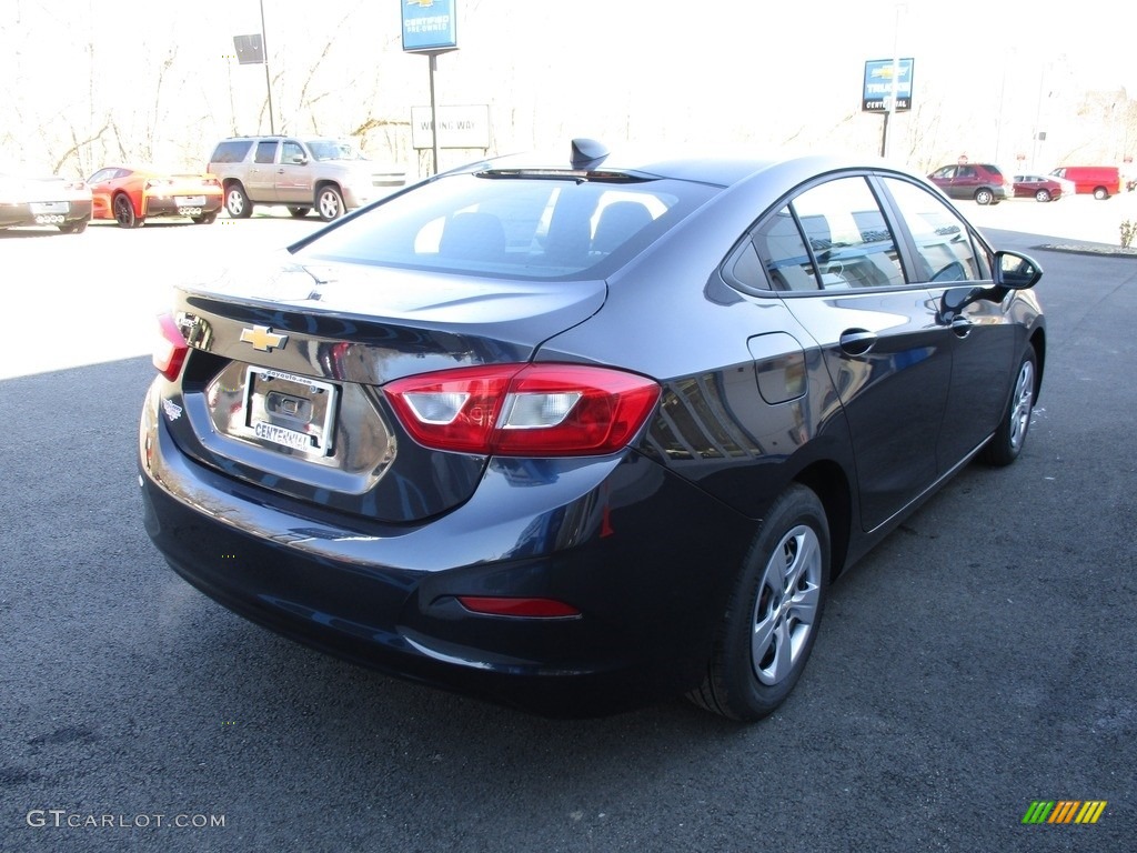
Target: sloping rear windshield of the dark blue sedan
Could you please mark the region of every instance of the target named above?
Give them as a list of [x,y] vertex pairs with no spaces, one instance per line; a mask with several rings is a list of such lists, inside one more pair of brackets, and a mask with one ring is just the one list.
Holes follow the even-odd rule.
[[345,221],[305,258],[525,279],[604,278],[717,188],[449,175]]

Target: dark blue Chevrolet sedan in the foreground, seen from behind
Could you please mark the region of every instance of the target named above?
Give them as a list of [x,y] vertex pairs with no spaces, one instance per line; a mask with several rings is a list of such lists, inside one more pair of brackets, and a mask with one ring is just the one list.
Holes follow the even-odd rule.
[[883,164],[473,164],[176,291],[147,530],[225,606],[391,673],[754,720],[833,578],[1022,450],[1040,275]]

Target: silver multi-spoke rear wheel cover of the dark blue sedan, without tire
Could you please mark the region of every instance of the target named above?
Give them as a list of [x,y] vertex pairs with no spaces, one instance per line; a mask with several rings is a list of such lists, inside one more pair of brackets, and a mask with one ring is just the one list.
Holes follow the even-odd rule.
[[805,648],[821,601],[821,544],[798,524],[774,548],[760,581],[750,619],[750,665],[758,681],[777,685]]

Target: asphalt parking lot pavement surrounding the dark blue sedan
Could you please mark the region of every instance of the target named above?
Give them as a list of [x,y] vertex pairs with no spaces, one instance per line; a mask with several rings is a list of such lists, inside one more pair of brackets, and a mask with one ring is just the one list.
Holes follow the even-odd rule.
[[[188,274],[316,223],[0,238],[18,271],[0,350],[0,850],[1131,850],[1137,258],[1038,248],[1063,234],[1001,227],[1007,213],[977,223],[1036,255],[1049,323],[1022,457],[963,471],[836,583],[803,681],[750,727],[682,699],[531,718],[205,598],[142,529],[152,367],[135,324],[171,257]],[[1023,823],[1036,801],[1106,806]]]

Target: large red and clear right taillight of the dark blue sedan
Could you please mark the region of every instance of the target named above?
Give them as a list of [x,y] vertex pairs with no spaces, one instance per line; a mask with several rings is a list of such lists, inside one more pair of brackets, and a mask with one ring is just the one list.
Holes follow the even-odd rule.
[[498,456],[594,456],[631,441],[659,399],[649,379],[578,364],[424,373],[383,391],[420,444]]

